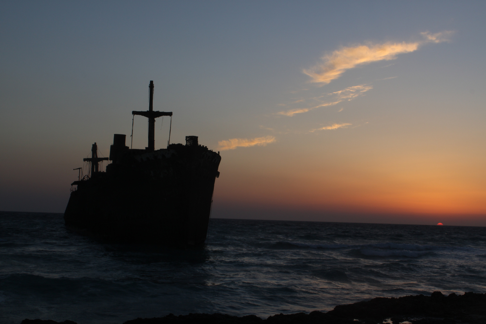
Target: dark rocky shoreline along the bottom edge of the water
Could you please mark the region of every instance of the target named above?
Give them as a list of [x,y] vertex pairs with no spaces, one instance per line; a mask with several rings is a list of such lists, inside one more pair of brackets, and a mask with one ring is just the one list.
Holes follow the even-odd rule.
[[[76,324],[73,321],[25,319],[21,324]],[[138,318],[123,324],[485,324],[486,293],[465,292],[449,296],[434,291],[431,296],[377,297],[369,301],[334,307],[326,313],[277,314],[261,319],[255,315],[169,314]]]

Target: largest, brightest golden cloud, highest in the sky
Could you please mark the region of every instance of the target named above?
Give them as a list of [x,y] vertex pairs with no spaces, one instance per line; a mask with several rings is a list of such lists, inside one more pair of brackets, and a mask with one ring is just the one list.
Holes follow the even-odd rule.
[[382,60],[394,60],[398,54],[417,51],[422,44],[447,41],[453,32],[446,31],[435,34],[424,32],[420,34],[423,40],[416,42],[368,43],[354,47],[342,47],[323,56],[320,63],[312,68],[304,69],[303,72],[312,78],[312,83],[327,85],[350,68]]

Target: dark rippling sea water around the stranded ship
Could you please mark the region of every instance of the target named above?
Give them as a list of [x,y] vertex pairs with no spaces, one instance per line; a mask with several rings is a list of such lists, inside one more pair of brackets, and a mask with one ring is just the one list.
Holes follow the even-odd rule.
[[212,219],[200,251],[100,244],[62,214],[0,212],[0,323],[327,311],[486,292],[486,227]]

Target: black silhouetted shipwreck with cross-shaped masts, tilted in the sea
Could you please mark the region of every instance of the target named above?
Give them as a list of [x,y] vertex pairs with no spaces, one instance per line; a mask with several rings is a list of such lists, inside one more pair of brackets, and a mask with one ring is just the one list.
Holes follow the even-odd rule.
[[[169,135],[167,148],[155,150],[155,119],[172,112],[154,111],[153,81],[149,91],[149,110],[132,111],[149,119],[148,146],[130,149],[126,135],[115,134],[110,156],[98,157],[94,143],[84,159],[89,174],[71,184],[66,226],[104,242],[202,246],[221,156],[197,136],[186,136],[184,145],[169,144]],[[105,172],[104,160],[111,161]]]

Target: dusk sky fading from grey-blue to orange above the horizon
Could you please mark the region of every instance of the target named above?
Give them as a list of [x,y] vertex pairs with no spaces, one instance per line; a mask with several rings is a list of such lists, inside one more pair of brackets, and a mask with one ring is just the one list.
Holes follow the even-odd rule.
[[[484,1],[1,1],[0,210],[172,111],[212,217],[486,226]],[[165,148],[169,119],[156,121]],[[134,119],[133,148],[147,146]]]

